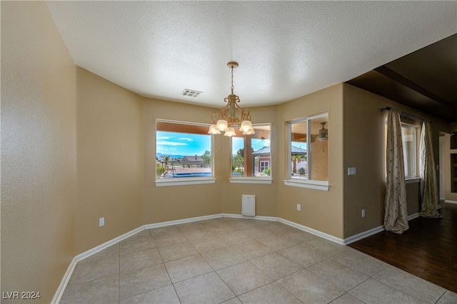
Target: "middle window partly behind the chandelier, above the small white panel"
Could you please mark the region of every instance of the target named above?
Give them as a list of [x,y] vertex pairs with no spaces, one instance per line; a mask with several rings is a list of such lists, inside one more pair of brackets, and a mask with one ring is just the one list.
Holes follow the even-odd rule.
[[270,125],[253,125],[256,134],[231,137],[232,177],[271,177]]

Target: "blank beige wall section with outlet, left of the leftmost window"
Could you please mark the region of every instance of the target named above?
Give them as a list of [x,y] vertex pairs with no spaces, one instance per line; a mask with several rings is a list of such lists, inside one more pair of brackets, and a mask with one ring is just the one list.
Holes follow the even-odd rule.
[[82,68],[76,81],[78,254],[141,226],[144,98]]

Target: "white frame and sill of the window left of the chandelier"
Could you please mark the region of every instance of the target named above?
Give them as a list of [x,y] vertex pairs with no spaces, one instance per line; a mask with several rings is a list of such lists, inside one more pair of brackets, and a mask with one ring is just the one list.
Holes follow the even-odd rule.
[[[155,123],[155,140],[154,140],[155,155],[157,154],[157,132],[167,132],[167,131],[157,130],[158,122],[165,122],[165,123],[175,124],[175,125],[199,126],[199,127],[204,127],[206,130],[209,127],[209,124],[204,124],[204,123],[199,123],[199,122],[182,122],[182,121],[177,121],[177,120],[165,120],[165,119],[157,118],[156,123]],[[168,132],[176,132],[176,131],[168,131]],[[176,132],[176,133],[179,133],[179,132]],[[189,185],[189,184],[214,184],[216,182],[216,178],[214,177],[214,135],[199,134],[199,133],[192,133],[192,132],[182,132],[182,133],[183,134],[187,133],[187,134],[205,135],[205,136],[210,137],[211,176],[209,176],[209,177],[182,177],[182,178],[176,178],[176,179],[174,179],[174,178],[160,179],[157,177],[157,174],[155,174],[156,187],[183,186],[183,185]]]

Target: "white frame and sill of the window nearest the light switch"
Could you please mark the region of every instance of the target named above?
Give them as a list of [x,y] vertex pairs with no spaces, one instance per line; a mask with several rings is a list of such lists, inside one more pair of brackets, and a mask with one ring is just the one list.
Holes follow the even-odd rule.
[[[292,178],[292,168],[291,168],[291,163],[292,163],[292,125],[294,123],[298,122],[306,122],[306,162],[308,164],[308,172],[311,172],[311,136],[308,136],[308,134],[311,133],[311,120],[314,120],[316,118],[320,117],[327,117],[328,121],[328,112],[324,112],[321,114],[316,114],[316,115],[311,115],[307,117],[300,117],[296,118],[293,120],[289,120],[287,122],[287,179],[284,180],[284,184],[286,186],[291,186],[291,187],[302,187],[302,188],[308,188],[308,189],[316,189],[316,190],[321,190],[321,191],[328,191],[329,188],[329,183],[328,181],[320,181],[316,179],[298,179],[298,178]],[[327,157],[327,166],[328,166],[328,157]],[[328,172],[328,167],[327,167],[327,172]],[[309,174],[309,173],[308,173]]]

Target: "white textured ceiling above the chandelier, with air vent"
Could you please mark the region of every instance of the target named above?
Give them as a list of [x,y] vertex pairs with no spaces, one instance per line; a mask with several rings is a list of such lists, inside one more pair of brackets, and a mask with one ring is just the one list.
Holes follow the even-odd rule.
[[[457,1],[47,1],[76,65],[139,95],[273,105],[457,33]],[[184,89],[203,93],[182,96]]]

